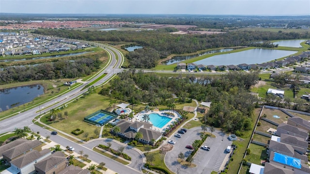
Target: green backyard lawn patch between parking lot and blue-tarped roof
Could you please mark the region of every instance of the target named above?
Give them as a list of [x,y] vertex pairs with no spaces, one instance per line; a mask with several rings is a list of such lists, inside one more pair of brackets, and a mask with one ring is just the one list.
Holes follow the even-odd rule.
[[251,152],[246,156],[248,162],[261,165],[261,160],[267,158],[267,150],[265,147],[251,143],[249,149]]

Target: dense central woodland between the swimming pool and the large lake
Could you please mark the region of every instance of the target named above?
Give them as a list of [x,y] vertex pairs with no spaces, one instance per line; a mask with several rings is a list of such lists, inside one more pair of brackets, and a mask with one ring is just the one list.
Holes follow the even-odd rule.
[[197,79],[193,76],[159,77],[155,73],[136,72],[132,69],[120,73],[99,94],[132,104],[149,103],[151,106],[170,106],[173,103],[190,102],[190,99],[212,102],[203,122],[234,133],[239,131],[240,135],[243,130],[251,128],[250,116],[258,99],[249,94],[248,89],[258,79],[258,71],[234,71]]

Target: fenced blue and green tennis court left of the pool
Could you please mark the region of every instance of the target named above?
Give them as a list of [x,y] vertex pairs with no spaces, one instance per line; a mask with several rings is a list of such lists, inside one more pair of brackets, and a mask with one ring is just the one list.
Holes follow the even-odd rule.
[[[95,125],[105,125],[111,121],[116,115],[108,111],[96,111],[84,118],[84,121],[93,123]],[[116,117],[115,117],[116,118]]]

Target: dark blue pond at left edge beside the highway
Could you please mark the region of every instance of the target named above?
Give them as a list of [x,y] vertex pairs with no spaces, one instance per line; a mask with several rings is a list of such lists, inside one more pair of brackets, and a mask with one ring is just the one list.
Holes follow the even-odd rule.
[[44,87],[39,84],[2,89],[0,90],[0,111],[31,102],[35,97],[43,94]]

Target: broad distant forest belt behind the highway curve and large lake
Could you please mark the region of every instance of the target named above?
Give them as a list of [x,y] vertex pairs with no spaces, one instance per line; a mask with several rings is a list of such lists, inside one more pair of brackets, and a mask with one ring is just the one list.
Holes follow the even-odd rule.
[[[136,68],[155,67],[157,56],[160,59],[171,54],[193,53],[200,50],[218,47],[256,46],[276,47],[272,43],[257,43],[259,41],[310,38],[309,32],[259,32],[259,31],[232,31],[222,34],[170,34],[170,29],[157,29],[154,31],[78,31],[78,30],[35,30],[34,33],[42,35],[56,35],[64,38],[81,39],[89,41],[128,42],[137,43],[147,50],[137,49],[128,54],[132,66]],[[154,50],[153,50],[154,49]],[[140,54],[152,51],[145,56]],[[147,62],[147,63],[145,63]],[[145,66],[143,64],[146,64]],[[130,65],[129,65],[130,66]]]

